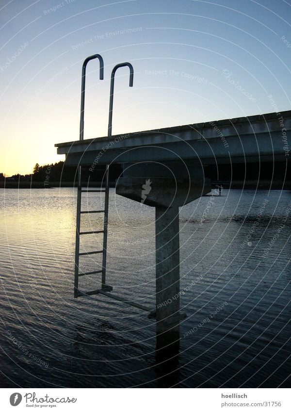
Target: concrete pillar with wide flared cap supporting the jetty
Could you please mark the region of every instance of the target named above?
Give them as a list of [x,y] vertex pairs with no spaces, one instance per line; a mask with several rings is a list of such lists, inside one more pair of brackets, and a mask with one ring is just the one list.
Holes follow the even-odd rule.
[[[135,173],[143,171],[138,166]],[[161,177],[162,173],[164,170],[159,173],[157,168],[146,167],[145,177],[120,178],[115,191],[156,208],[157,349],[172,356],[179,347],[179,322],[186,317],[179,311],[179,206],[209,193],[211,186],[209,179],[200,176],[182,179],[179,170],[175,170],[176,179]]]

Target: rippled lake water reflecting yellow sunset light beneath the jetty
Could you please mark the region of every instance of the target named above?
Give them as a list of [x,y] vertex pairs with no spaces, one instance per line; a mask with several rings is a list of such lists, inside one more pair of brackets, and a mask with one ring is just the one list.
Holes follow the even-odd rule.
[[[154,209],[114,190],[110,197],[107,283],[154,308]],[[83,197],[84,208],[101,202]],[[0,189],[0,204],[1,386],[290,385],[290,191],[224,190],[181,209],[188,317],[172,363],[155,353],[146,313],[107,297],[73,298],[74,189]],[[100,227],[98,216],[82,223]],[[98,236],[87,236],[86,250],[101,245]],[[84,270],[100,265],[92,256]],[[98,275],[82,282],[100,285]]]

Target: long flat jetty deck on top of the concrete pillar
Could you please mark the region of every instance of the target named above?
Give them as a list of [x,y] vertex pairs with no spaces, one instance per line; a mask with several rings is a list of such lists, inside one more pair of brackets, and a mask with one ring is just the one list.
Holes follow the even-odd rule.
[[[67,165],[197,160],[204,165],[282,161],[291,111],[59,143]],[[285,147],[285,149],[284,149]]]

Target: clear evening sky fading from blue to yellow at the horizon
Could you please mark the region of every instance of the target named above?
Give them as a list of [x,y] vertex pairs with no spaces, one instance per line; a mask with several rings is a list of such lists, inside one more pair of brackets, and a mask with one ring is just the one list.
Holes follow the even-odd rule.
[[84,138],[290,110],[291,0],[0,0],[0,172],[64,160]]

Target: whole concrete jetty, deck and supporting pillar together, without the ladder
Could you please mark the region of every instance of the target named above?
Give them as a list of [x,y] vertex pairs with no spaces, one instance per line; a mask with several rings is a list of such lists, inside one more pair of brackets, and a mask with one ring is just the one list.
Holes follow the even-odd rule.
[[122,164],[116,194],[156,208],[158,348],[178,347],[185,317],[179,311],[179,207],[211,191],[207,165],[287,161],[290,131],[291,111],[285,111],[56,145],[66,165],[93,172],[97,165]]

